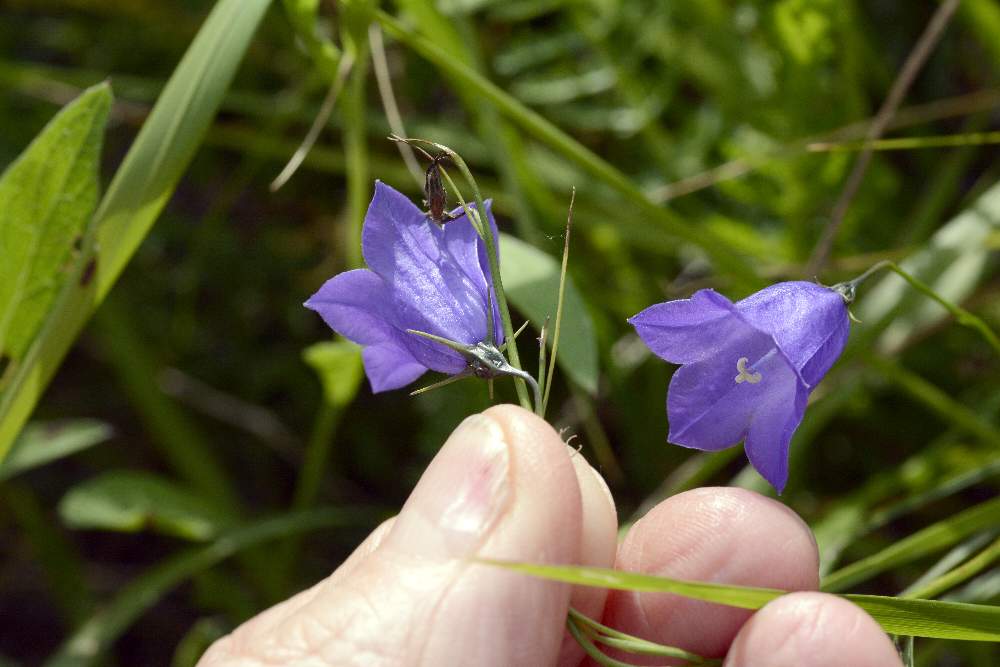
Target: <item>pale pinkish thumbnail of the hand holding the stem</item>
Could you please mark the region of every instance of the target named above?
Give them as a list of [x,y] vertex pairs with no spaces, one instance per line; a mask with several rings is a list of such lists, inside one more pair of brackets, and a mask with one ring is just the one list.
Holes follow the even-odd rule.
[[414,556],[468,556],[496,525],[510,495],[503,429],[489,417],[473,415],[434,457],[387,539]]

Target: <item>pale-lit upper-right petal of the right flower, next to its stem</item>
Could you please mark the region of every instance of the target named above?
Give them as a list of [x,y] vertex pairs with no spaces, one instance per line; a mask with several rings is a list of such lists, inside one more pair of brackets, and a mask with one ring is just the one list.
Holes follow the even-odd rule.
[[752,326],[774,336],[809,386],[830,370],[847,343],[847,306],[840,294],[823,285],[778,283],[737,302],[736,309]]

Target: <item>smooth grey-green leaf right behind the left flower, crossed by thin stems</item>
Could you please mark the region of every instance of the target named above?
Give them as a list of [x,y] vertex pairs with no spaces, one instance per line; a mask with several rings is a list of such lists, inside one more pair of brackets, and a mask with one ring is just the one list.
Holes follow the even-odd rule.
[[[559,296],[560,263],[534,246],[501,234],[500,271],[507,298],[526,315],[535,329],[546,317],[555,321]],[[572,252],[570,254],[572,261]],[[591,394],[597,392],[597,338],[583,296],[567,277],[562,332],[556,362],[574,382]],[[548,337],[552,346],[552,337]]]

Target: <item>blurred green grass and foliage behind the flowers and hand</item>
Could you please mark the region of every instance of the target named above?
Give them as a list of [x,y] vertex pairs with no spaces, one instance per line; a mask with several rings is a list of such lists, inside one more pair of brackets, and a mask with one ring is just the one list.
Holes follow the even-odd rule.
[[[106,186],[211,4],[7,0],[0,164],[110,79]],[[603,470],[623,522],[694,485],[769,491],[741,448],[666,444],[672,367],[625,322],[645,306],[705,286],[735,299],[780,279],[829,284],[894,259],[1000,328],[994,146],[876,152],[830,261],[808,275],[858,155],[809,143],[864,137],[937,2],[386,3],[410,34],[495,82],[507,109],[391,30],[384,49],[369,44],[364,3],[324,3],[315,26],[284,11],[309,5],[268,11],[168,206],[0,468],[4,664],[40,664],[80,628],[107,648],[98,661],[193,664],[212,638],[335,568],[489,404],[471,381],[373,396],[356,352],[317,346],[329,331],[301,306],[356,261],[374,179],[420,198],[386,140],[373,46],[406,132],[465,157],[503,231],[557,257],[576,188],[570,274],[600,376],[592,392],[557,374],[549,418]],[[998,35],[1000,4],[964,0],[886,136],[1000,129]],[[327,39],[354,67],[317,145],[271,192],[335,76]],[[530,110],[557,134],[524,121]],[[997,356],[900,285],[866,287],[862,322],[793,444],[782,500],[817,531],[826,572],[997,495]],[[589,325],[569,323],[567,339],[574,326]],[[937,551],[964,549],[955,564],[980,553],[1000,532],[989,507]],[[223,534],[235,542],[220,549]],[[264,551],[268,536],[277,547]],[[941,555],[915,550],[851,590],[898,594]],[[936,595],[1000,600],[993,561],[961,583]],[[129,612],[140,598],[148,608]],[[1000,663],[991,644],[918,641],[916,655]]]

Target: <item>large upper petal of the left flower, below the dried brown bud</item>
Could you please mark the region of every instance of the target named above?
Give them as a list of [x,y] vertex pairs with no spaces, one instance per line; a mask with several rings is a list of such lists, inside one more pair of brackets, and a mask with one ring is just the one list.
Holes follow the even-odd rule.
[[[447,226],[453,225],[470,226],[461,220]],[[459,232],[449,229],[447,234],[449,238],[454,235],[455,245],[464,249],[459,241],[471,237]],[[393,324],[400,330],[417,329],[460,343],[477,343],[486,338],[485,278],[470,278],[475,272],[470,271],[468,259],[464,253],[453,253],[445,235],[409,199],[376,182],[362,248],[365,261],[393,295]],[[472,264],[477,265],[478,261]],[[418,359],[420,350],[433,345],[407,341]]]

